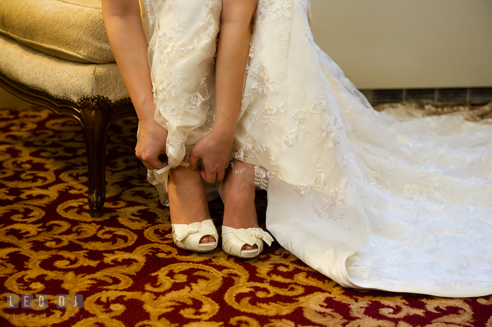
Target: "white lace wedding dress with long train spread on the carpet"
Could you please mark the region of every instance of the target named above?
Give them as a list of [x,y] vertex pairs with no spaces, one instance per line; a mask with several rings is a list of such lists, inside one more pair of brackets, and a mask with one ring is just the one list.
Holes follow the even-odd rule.
[[[213,126],[221,1],[141,9],[176,166]],[[233,155],[255,165],[284,248],[345,287],[492,294],[490,121],[374,111],[314,43],[305,0],[259,0],[243,94]]]

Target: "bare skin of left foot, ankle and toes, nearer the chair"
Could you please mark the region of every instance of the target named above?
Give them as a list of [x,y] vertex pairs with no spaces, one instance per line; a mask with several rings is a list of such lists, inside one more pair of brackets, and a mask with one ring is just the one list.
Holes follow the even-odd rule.
[[[199,170],[182,166],[169,170],[168,195],[173,224],[192,224],[211,219]],[[215,241],[213,236],[200,239],[200,243]]]

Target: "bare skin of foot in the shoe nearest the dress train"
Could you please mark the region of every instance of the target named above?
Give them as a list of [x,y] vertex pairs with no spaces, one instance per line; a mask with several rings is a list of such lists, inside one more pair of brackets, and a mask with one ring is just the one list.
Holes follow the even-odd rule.
[[[224,199],[224,226],[232,228],[258,227],[253,180],[253,166],[234,160],[221,189],[221,195]],[[246,244],[241,249],[251,250],[256,247],[256,245]]]

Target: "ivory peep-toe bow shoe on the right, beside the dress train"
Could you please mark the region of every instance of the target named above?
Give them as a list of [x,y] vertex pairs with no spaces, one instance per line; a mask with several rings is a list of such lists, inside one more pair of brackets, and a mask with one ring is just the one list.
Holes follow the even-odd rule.
[[[269,246],[272,245],[273,238],[261,228],[232,228],[222,226],[222,250],[229,255],[243,259],[257,257],[263,251],[263,241]],[[251,250],[241,248],[249,244],[256,245]]]

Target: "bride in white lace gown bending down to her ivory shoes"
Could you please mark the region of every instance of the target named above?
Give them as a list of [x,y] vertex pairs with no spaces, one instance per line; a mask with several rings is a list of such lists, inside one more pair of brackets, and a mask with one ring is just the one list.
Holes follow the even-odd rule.
[[170,205],[176,246],[217,247],[215,182],[222,249],[257,256],[273,241],[256,221],[258,186],[275,239],[342,286],[492,294],[489,122],[374,111],[314,43],[307,5],[103,0],[136,155]]

